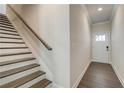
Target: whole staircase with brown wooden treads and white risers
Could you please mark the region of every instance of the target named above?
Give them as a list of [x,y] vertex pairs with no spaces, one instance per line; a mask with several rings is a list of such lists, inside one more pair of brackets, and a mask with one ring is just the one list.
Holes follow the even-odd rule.
[[0,88],[45,88],[52,82],[8,18],[0,14]]

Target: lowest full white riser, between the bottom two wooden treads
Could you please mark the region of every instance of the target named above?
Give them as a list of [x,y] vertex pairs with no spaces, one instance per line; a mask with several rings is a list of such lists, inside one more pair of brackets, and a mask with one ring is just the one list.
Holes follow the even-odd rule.
[[34,85],[35,83],[39,82],[40,80],[44,79],[46,76],[45,74],[44,75],[41,75],[35,79],[33,79],[32,81],[29,81],[27,82],[26,84],[23,84],[21,86],[19,86],[19,88],[29,88],[31,87],[32,85]]

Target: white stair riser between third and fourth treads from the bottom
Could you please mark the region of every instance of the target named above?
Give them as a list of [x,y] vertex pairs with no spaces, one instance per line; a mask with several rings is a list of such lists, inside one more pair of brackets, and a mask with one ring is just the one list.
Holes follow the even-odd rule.
[[0,72],[7,71],[7,70],[10,70],[10,69],[14,69],[14,68],[18,68],[18,67],[22,67],[22,66],[26,66],[26,65],[30,65],[30,64],[33,64],[33,63],[36,63],[36,61],[35,60],[30,60],[30,61],[25,61],[25,62],[20,62],[20,63],[1,66],[0,67]]

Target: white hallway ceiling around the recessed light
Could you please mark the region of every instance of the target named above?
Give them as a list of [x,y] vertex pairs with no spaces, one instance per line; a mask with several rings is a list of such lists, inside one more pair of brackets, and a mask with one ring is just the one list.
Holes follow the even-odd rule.
[[[102,11],[97,11],[98,8]],[[114,5],[112,4],[86,4],[92,23],[109,21],[112,15]]]

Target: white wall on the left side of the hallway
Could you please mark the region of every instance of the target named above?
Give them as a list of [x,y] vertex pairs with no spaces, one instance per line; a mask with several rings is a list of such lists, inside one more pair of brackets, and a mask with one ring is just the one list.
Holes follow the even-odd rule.
[[91,62],[90,23],[84,5],[70,5],[70,86],[77,87]]

